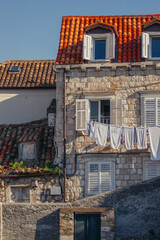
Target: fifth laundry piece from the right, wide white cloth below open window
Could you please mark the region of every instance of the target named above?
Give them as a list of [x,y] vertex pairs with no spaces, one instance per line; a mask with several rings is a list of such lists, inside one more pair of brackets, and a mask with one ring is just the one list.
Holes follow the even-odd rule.
[[96,144],[105,147],[108,136],[108,125],[96,123]]

